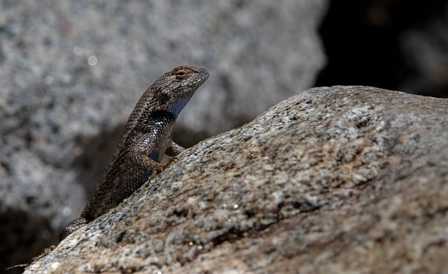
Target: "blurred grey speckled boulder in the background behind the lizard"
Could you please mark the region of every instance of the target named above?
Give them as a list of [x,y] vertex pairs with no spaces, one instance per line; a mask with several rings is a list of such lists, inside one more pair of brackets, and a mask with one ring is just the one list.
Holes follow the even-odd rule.
[[211,73],[179,121],[178,137],[196,140],[309,88],[324,62],[326,3],[0,0],[0,268],[38,254],[78,216],[163,72]]

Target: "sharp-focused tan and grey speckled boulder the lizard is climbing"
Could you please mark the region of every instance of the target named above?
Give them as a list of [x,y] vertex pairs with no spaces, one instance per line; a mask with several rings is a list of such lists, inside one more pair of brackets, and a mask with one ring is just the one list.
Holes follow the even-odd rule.
[[448,271],[448,100],[313,88],[179,158],[29,273]]

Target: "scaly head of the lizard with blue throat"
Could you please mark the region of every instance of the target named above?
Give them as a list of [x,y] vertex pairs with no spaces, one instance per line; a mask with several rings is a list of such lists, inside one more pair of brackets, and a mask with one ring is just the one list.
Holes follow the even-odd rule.
[[202,67],[181,66],[160,76],[153,84],[160,109],[169,111],[175,117],[193,97],[197,88],[209,78],[209,72]]

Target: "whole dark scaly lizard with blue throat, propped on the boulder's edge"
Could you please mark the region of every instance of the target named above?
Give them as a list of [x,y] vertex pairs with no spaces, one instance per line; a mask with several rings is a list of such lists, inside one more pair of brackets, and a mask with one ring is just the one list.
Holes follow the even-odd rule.
[[[89,202],[80,217],[62,229],[59,240],[116,207],[176,159],[184,149],[173,142],[174,122],[207,78],[207,69],[181,66],[166,72],[146,89]],[[164,153],[171,158],[161,164]]]

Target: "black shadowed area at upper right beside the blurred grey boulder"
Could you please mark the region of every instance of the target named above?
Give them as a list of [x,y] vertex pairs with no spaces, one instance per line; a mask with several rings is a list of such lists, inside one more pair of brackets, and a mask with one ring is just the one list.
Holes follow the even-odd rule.
[[448,1],[330,1],[328,62],[315,85],[372,85],[448,97]]

